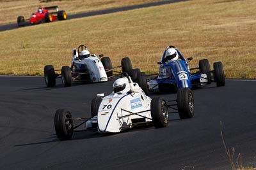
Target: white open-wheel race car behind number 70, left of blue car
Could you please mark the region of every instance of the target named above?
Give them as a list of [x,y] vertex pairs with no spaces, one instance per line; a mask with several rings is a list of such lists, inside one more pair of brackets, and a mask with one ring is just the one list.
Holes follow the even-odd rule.
[[70,87],[72,82],[77,81],[97,83],[108,81],[108,78],[113,77],[113,72],[121,73],[121,71],[114,71],[120,67],[122,72],[131,72],[132,64],[129,57],[122,59],[121,66],[113,67],[109,57],[103,57],[103,54],[99,57],[90,54],[86,46],[80,45],[77,50],[76,48],[72,50],[71,67],[62,66],[61,69],[54,69],[52,65],[47,65],[44,67],[44,79],[47,87],[54,87],[56,78],[61,78],[64,87]]

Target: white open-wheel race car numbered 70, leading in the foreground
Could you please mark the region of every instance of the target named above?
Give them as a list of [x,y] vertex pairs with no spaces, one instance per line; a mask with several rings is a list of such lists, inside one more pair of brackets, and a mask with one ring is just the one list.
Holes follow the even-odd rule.
[[[58,138],[70,139],[73,132],[78,131],[114,133],[148,124],[153,124],[156,128],[166,127],[169,113],[179,113],[180,118],[193,117],[194,100],[188,88],[178,90],[177,100],[165,101],[163,97],[151,99],[138,83],[132,82],[127,73],[122,73],[121,78],[114,82],[113,92],[109,96],[98,94],[92,100],[91,111],[91,118],[72,118],[70,111],[57,110],[54,127]],[[74,124],[77,121],[81,123]],[[84,129],[76,130],[84,124]]]

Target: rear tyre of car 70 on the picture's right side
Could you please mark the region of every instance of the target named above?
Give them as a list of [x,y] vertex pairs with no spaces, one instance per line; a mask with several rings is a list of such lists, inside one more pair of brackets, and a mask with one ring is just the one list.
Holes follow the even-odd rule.
[[195,105],[192,91],[189,88],[180,88],[177,91],[177,106],[180,118],[191,118],[194,116]]

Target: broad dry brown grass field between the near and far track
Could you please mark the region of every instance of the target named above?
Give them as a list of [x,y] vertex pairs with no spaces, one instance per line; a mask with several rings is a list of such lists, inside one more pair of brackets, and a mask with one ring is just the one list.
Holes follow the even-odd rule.
[[42,75],[45,64],[70,65],[80,44],[115,66],[128,56],[134,67],[156,72],[163,50],[175,45],[194,58],[191,67],[221,60],[227,78],[256,78],[255,6],[194,0],[0,32],[0,74]]

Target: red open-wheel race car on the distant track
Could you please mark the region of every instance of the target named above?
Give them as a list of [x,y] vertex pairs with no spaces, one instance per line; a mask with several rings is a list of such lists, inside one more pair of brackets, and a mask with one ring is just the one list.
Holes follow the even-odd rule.
[[[55,10],[49,12],[48,10]],[[58,6],[49,6],[49,7],[40,7],[36,13],[32,13],[32,16],[28,19],[25,19],[23,16],[17,18],[18,26],[24,26],[26,24],[40,24],[44,22],[54,22],[56,20],[65,20],[67,19],[67,13],[63,10],[59,10]]]

